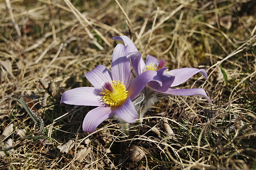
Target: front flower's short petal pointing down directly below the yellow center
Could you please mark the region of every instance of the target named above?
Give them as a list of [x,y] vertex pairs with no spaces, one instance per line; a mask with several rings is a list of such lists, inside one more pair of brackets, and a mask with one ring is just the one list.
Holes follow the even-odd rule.
[[124,121],[128,123],[135,122],[139,115],[133,105],[133,102],[128,97],[126,101],[120,106],[116,107],[113,112],[118,116],[119,118],[123,119]]

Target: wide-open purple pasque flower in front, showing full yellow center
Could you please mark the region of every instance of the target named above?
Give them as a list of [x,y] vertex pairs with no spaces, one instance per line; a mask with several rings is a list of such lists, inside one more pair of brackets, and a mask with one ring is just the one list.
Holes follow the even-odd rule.
[[[83,120],[83,130],[89,133],[114,114],[128,123],[136,121],[137,111],[132,100],[145,88],[149,81],[162,84],[156,72],[143,72],[130,82],[130,57],[138,52],[128,54],[129,47],[118,44],[113,51],[111,72],[103,65],[85,74],[94,87],[78,87],[62,94],[61,103],[69,105],[98,106],[90,110]],[[159,85],[159,86],[160,86]]]

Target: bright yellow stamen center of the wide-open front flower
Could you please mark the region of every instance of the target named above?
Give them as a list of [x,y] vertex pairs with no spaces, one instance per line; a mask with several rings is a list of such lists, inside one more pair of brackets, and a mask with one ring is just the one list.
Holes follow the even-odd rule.
[[103,86],[101,94],[102,100],[110,106],[118,106],[123,103],[127,98],[126,86],[123,85],[123,82],[111,81],[111,83],[105,83]]

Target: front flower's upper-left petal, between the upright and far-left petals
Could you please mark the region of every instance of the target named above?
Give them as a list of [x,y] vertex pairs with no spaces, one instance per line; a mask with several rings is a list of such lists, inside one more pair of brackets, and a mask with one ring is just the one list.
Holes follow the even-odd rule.
[[85,73],[85,77],[95,88],[102,88],[104,83],[112,80],[111,72],[104,65],[98,65],[92,71]]

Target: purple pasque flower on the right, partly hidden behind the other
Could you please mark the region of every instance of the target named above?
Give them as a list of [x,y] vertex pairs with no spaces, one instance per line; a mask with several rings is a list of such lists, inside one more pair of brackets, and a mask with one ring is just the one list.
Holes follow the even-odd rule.
[[[129,46],[127,51],[128,53],[137,51],[135,44],[127,36],[113,37],[112,39],[121,40],[124,42],[125,45]],[[155,81],[151,81],[147,84],[149,87],[154,89],[153,93],[158,92],[158,93],[164,93],[169,95],[183,95],[183,96],[202,95],[211,103],[211,100],[208,98],[203,88],[189,88],[189,89],[170,88],[186,82],[188,79],[190,79],[190,77],[192,77],[193,75],[199,72],[207,79],[207,74],[204,69],[180,68],[180,69],[168,70],[165,67],[166,62],[163,59],[158,61],[157,58],[148,55],[146,62],[144,62],[140,54],[131,56],[131,63],[133,65],[135,77],[141,75],[142,73],[148,70],[153,70],[158,73],[157,74],[158,79],[161,80],[162,82],[161,86],[158,82],[155,82]]]

